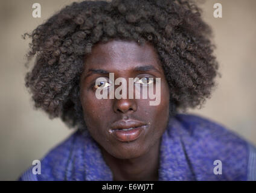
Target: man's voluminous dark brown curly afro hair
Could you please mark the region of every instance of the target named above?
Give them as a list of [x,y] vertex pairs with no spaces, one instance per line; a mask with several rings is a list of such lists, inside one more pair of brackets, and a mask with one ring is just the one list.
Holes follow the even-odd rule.
[[25,77],[34,107],[68,127],[82,124],[79,81],[86,54],[110,39],[151,43],[170,86],[172,112],[202,106],[216,85],[218,63],[211,28],[201,10],[186,0],[113,0],[74,2],[32,33]]

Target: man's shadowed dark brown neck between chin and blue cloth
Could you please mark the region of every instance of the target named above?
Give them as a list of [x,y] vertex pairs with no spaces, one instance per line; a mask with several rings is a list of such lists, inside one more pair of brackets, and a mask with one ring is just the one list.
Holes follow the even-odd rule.
[[140,157],[117,159],[101,148],[103,159],[113,174],[113,180],[158,180],[160,139]]

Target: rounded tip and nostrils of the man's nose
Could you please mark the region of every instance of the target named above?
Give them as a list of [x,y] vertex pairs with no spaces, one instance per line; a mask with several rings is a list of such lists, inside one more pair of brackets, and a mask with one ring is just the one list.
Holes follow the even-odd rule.
[[137,104],[134,99],[115,99],[114,101],[114,112],[115,113],[127,113],[136,112]]

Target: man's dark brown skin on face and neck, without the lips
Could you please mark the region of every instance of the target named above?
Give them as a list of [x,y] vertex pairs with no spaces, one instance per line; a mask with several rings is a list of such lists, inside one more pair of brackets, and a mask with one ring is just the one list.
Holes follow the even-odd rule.
[[[128,99],[128,96],[127,99],[98,100],[95,80],[109,78],[107,72],[114,72],[115,79],[126,78],[127,84],[128,78],[161,78],[161,103],[150,106],[151,99]],[[158,180],[159,148],[168,124],[169,97],[168,83],[158,54],[149,43],[142,46],[132,41],[111,40],[98,43],[91,54],[86,55],[80,79],[83,116],[114,180]],[[118,141],[109,133],[110,125],[129,119],[144,122],[146,128],[135,141]]]

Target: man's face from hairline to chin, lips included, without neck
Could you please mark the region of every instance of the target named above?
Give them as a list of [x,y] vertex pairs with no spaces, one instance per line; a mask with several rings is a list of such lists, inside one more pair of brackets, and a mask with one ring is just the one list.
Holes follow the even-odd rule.
[[[130,99],[128,90],[127,99],[97,99],[97,78],[108,80],[103,85],[105,89],[114,84],[109,82],[109,72],[114,73],[115,79],[126,79],[127,89],[129,78],[161,78],[160,104],[150,106],[152,99],[142,99],[140,83],[147,81],[136,84],[141,86],[140,99]],[[107,153],[118,159],[131,159],[147,153],[161,139],[169,115],[169,88],[153,46],[149,43],[139,46],[136,42],[124,40],[95,45],[85,59],[80,80],[80,101],[89,133]]]

